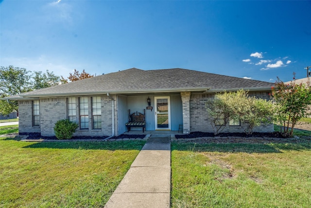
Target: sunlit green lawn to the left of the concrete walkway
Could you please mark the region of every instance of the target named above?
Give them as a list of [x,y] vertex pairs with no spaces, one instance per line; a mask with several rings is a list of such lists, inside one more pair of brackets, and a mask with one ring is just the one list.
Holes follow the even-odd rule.
[[0,138],[0,207],[104,207],[145,141]]

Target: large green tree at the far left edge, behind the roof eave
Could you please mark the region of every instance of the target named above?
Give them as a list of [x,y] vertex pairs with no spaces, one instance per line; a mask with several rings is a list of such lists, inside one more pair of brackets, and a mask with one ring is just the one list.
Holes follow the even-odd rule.
[[[31,91],[31,76],[25,68],[0,67],[0,97],[17,95]],[[18,112],[17,101],[0,100],[0,113],[3,115]]]

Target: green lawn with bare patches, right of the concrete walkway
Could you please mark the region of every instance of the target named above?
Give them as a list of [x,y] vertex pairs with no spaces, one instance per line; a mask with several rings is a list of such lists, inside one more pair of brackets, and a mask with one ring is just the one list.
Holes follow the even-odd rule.
[[172,142],[173,208],[309,208],[311,143]]

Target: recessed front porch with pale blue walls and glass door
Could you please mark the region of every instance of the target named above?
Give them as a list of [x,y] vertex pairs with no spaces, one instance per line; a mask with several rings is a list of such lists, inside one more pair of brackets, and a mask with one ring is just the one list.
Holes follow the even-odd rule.
[[[190,92],[167,94],[133,94],[117,96],[116,121],[118,134],[183,134],[190,132]],[[186,97],[186,99],[185,99]],[[125,123],[129,114],[144,114],[145,132],[142,127],[131,127],[127,132]],[[180,128],[182,125],[182,128]]]

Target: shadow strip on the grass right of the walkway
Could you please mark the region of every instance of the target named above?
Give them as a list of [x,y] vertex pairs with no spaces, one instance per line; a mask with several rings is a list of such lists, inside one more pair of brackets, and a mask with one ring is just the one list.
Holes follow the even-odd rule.
[[171,143],[171,151],[218,151],[218,152],[246,152],[246,153],[282,153],[286,150],[311,150],[311,142],[302,143]]

